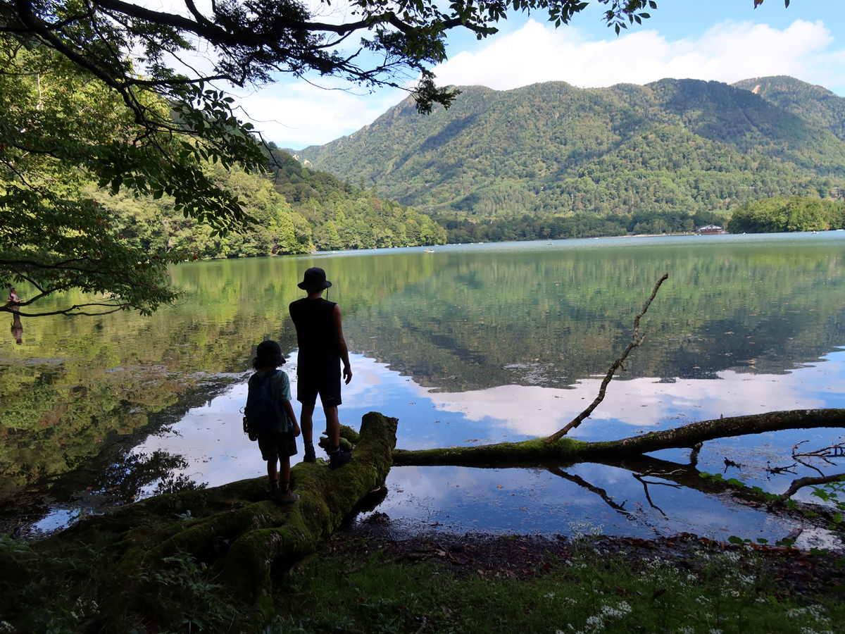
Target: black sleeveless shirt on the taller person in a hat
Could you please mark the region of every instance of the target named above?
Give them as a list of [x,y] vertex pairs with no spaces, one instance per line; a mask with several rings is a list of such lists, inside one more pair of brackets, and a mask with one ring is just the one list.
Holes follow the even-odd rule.
[[335,306],[327,299],[297,299],[288,307],[297,327],[297,376],[340,374],[341,355],[335,342]]

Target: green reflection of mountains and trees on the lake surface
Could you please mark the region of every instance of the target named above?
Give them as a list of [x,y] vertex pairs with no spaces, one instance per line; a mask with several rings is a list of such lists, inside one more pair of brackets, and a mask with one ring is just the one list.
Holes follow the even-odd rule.
[[328,298],[341,303],[353,351],[442,391],[565,387],[603,373],[667,271],[623,377],[782,373],[845,343],[836,236],[734,238],[181,265],[183,298],[150,318],[30,320],[23,345],[0,341],[0,498],[149,433],[161,424],[149,413],[238,380],[265,337],[294,350],[287,304],[311,265],[335,282]]

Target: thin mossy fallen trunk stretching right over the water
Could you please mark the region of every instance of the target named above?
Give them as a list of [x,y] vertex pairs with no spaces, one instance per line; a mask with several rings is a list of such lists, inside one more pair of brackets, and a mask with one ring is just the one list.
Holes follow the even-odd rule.
[[585,442],[559,438],[552,442],[537,438],[522,442],[503,442],[475,447],[450,447],[419,451],[395,450],[396,466],[426,465],[492,465],[509,462],[586,462],[613,456],[635,456],[650,451],[693,447],[706,440],[782,429],[816,429],[845,427],[845,409],[796,409],[750,416],[733,416],[703,420],[621,440]]

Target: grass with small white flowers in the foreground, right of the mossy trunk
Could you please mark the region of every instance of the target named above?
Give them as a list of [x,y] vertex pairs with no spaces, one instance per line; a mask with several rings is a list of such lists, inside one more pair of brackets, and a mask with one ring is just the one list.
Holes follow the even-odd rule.
[[845,622],[841,593],[789,596],[750,549],[697,549],[679,566],[581,546],[545,563],[529,579],[467,577],[381,550],[324,553],[291,572],[264,632],[826,634]]

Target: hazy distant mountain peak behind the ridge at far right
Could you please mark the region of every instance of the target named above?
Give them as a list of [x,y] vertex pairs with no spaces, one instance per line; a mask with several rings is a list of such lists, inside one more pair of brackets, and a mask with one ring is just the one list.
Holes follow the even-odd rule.
[[750,90],[820,128],[829,129],[839,139],[845,139],[845,97],[822,86],[787,75],[743,79],[733,86]]

